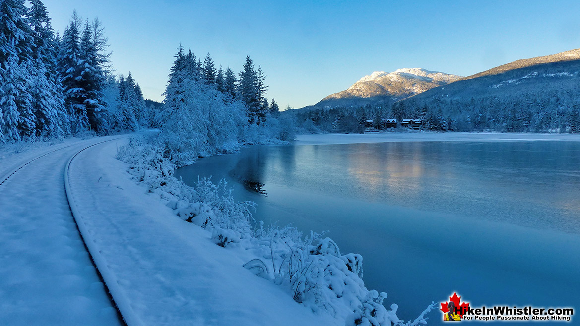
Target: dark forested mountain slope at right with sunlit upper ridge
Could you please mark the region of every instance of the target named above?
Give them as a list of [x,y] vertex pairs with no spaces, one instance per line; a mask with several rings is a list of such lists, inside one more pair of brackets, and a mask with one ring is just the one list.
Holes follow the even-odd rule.
[[580,133],[580,49],[513,61],[400,103],[435,129]]

